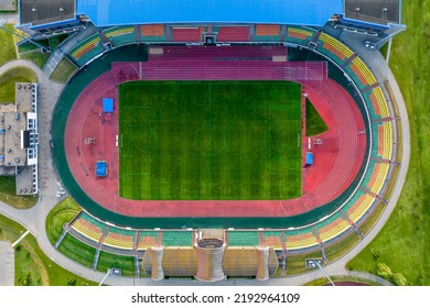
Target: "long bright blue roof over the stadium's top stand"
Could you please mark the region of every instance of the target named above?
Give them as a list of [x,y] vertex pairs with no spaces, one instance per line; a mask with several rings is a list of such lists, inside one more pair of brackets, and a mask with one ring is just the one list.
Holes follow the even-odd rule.
[[344,0],[77,0],[96,25],[277,23],[321,26],[344,13]]

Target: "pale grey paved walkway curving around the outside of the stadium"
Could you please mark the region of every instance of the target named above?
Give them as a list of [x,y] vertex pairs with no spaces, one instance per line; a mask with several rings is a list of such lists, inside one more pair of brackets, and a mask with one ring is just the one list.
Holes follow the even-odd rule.
[[[400,89],[393,76],[391,70],[387,66],[385,59],[377,51],[370,51],[365,48],[359,42],[354,41],[353,34],[343,35],[341,37],[345,42],[347,42],[353,48],[358,51],[359,55],[370,66],[373,66],[373,70],[376,72],[376,75],[379,80],[387,79],[390,82],[394,95],[396,96],[396,100],[398,102],[398,108],[400,111],[401,125],[402,125],[402,140],[405,142],[402,147],[402,162],[400,172],[398,175],[397,184],[395,186],[391,199],[388,202],[387,210],[384,211],[381,218],[379,219],[377,226],[370,231],[365,239],[359,242],[356,246],[354,246],[348,253],[346,253],[338,261],[329,264],[324,267],[324,270],[332,276],[357,276],[357,277],[366,277],[375,282],[384,283],[379,277],[375,277],[373,275],[366,273],[355,273],[348,272],[345,270],[346,263],[353,258],[357,253],[359,253],[380,231],[384,227],[385,222],[388,220],[389,215],[393,212],[395,205],[398,200],[398,197],[401,193],[401,188],[405,183],[408,165],[409,165],[409,156],[410,156],[410,147],[409,143],[409,122],[407,117],[407,111],[405,107],[404,99],[401,97]],[[358,43],[357,43],[358,42]],[[53,261],[63,266],[64,268],[76,273],[79,276],[83,276],[87,279],[94,282],[100,282],[105,273],[95,272],[88,267],[84,267],[74,261],[65,257],[63,254],[58,253],[49,242],[46,232],[45,232],[45,218],[50,210],[57,204],[56,191],[57,191],[57,183],[58,178],[56,176],[55,169],[53,167],[51,148],[49,145],[49,141],[51,139],[50,128],[51,128],[51,118],[53,114],[53,110],[55,103],[60,97],[61,91],[63,90],[63,85],[51,82],[46,75],[34,64],[26,61],[13,61],[10,62],[2,67],[0,67],[0,74],[10,67],[22,65],[33,69],[39,77],[40,80],[40,103],[39,103],[39,112],[40,112],[40,200],[33,208],[29,210],[17,210],[4,204],[0,202],[0,213],[6,215],[7,217],[17,220],[25,228],[30,230],[30,232],[36,237],[39,245],[49,255]],[[64,166],[67,167],[67,166]],[[189,280],[189,279],[164,279],[160,282],[153,282],[148,278],[122,278],[122,277],[108,277],[106,284],[109,285],[303,285],[313,279],[323,277],[323,273],[321,271],[314,271],[308,274],[288,277],[283,279],[269,279],[265,283],[258,280],[246,280],[246,279],[229,279],[227,282],[219,282],[216,284],[207,284],[200,283],[197,280]],[[385,283],[386,284],[386,283]]]

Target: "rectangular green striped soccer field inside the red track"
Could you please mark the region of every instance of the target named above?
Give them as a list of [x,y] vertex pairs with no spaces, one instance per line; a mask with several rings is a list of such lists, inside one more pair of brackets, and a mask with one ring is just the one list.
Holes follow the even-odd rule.
[[122,84],[119,134],[123,198],[261,200],[301,195],[299,84]]

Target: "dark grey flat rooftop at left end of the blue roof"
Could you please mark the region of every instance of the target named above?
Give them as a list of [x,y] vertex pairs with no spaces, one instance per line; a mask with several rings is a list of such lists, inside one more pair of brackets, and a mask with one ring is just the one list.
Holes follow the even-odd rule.
[[76,0],[21,0],[20,22],[37,25],[75,19],[75,8]]

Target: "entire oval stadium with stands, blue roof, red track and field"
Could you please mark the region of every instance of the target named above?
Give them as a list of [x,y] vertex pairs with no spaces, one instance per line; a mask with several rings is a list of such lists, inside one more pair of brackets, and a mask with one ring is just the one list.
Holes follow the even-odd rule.
[[[390,84],[344,37],[378,48],[399,0],[19,1],[34,40],[77,68],[53,156],[82,207],[55,248],[129,275],[294,275],[331,263],[387,207],[401,163]],[[310,135],[307,103],[327,125]],[[122,273],[125,273],[122,268]]]

